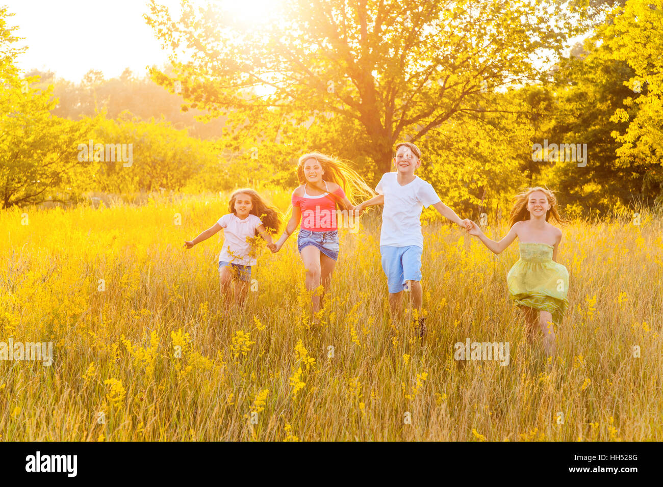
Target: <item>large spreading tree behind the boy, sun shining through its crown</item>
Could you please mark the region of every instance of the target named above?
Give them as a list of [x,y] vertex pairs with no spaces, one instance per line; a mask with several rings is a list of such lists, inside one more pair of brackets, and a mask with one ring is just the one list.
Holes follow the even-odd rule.
[[[262,142],[289,131],[304,142],[290,157],[328,150],[377,177],[389,170],[394,142],[422,142],[454,117],[476,113],[489,91],[542,78],[581,28],[564,5],[284,0],[278,17],[248,23],[223,5],[188,1],[172,19],[152,0],[147,22],[174,65],[174,76],[152,70],[152,77],[181,91],[185,106],[232,112],[226,134],[238,137],[238,148],[259,145],[269,156]],[[184,50],[188,58],[178,59]]]

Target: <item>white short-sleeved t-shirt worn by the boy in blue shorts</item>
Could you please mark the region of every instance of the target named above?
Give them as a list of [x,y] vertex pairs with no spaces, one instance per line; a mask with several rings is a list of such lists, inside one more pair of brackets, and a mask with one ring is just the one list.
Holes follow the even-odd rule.
[[385,207],[382,210],[382,231],[380,244],[395,247],[416,245],[424,248],[424,236],[421,233],[421,211],[440,201],[438,193],[419,176],[412,182],[400,186],[397,172],[383,174],[375,191],[385,195]]

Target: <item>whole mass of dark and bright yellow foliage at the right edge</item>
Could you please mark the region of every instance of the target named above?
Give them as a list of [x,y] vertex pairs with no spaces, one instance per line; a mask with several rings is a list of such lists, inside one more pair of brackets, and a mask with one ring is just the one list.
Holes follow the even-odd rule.
[[638,23],[638,5],[628,1],[626,13],[609,13],[583,48],[560,60],[554,101],[535,131],[534,142],[587,144],[585,167],[575,161],[537,163],[542,172],[536,182],[560,191],[571,215],[605,215],[661,198],[663,80],[656,60],[663,17],[659,1],[658,9],[643,7],[644,21]]

